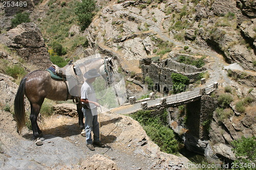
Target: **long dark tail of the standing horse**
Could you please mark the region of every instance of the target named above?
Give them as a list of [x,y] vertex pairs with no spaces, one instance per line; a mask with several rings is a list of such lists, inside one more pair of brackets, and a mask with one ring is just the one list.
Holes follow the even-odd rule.
[[22,128],[26,124],[25,104],[24,104],[24,93],[27,78],[23,78],[20,81],[18,91],[14,99],[14,117],[17,122],[18,133],[21,132]]

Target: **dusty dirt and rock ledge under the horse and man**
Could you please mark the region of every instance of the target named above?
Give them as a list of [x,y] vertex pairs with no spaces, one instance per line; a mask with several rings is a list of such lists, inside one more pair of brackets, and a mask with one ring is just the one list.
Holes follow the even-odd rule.
[[100,114],[100,136],[108,147],[95,151],[86,147],[77,117],[41,119],[44,144],[37,146],[31,131],[17,134],[10,112],[0,115],[0,169],[164,169],[188,161],[160,152],[138,122],[116,113]]

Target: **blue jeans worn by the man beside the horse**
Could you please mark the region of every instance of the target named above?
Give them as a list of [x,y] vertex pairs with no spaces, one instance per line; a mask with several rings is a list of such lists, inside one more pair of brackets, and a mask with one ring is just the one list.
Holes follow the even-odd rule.
[[86,142],[87,144],[92,144],[92,134],[93,131],[93,139],[94,141],[99,141],[99,123],[98,123],[98,115],[93,116],[91,109],[82,108],[83,116],[86,118],[85,122],[85,130],[86,130]]

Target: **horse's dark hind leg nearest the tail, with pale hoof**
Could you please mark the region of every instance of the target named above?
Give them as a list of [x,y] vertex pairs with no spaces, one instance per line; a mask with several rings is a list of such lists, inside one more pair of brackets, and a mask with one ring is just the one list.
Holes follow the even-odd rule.
[[[31,125],[32,125],[33,136],[37,140],[40,140],[39,135],[42,133],[42,131],[39,129],[39,127],[37,125],[37,116],[41,109],[41,105],[42,105],[42,102],[40,102],[40,104],[37,104],[37,103],[31,104],[30,121],[31,121]],[[36,144],[41,145],[42,142],[37,141]]]

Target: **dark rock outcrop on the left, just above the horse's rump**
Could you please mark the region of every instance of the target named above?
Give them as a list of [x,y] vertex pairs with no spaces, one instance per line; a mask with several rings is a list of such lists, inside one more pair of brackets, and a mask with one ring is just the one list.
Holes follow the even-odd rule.
[[7,34],[0,34],[0,38],[1,43],[15,50],[26,62],[41,69],[46,69],[52,64],[45,40],[33,22],[22,23]]

